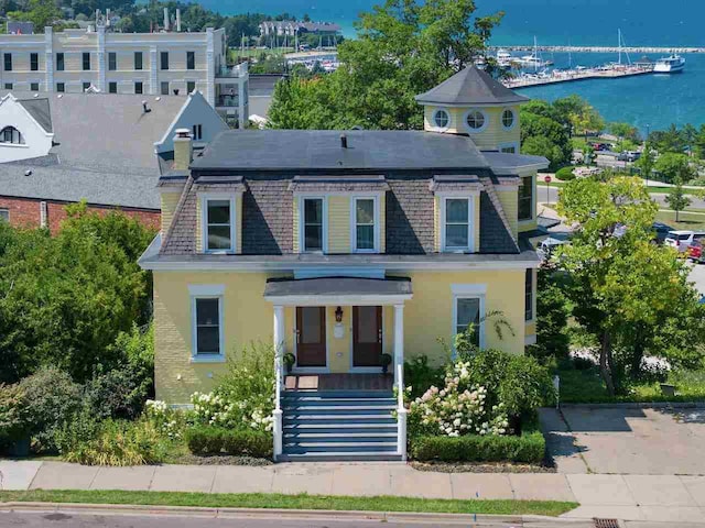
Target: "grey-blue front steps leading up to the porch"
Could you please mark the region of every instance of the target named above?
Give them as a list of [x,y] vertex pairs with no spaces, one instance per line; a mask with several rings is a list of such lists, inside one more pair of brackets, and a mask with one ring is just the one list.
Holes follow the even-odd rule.
[[283,462],[400,461],[389,391],[285,391]]

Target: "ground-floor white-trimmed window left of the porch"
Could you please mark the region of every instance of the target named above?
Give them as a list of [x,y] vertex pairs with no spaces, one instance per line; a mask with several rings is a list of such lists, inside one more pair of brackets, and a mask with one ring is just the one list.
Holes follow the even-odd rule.
[[192,310],[192,361],[224,361],[221,285],[189,285]]

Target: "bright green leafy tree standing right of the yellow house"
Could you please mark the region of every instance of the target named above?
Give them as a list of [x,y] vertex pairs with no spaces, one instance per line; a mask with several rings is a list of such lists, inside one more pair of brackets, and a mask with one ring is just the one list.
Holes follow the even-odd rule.
[[[566,293],[575,319],[599,341],[609,394],[623,389],[626,366],[640,363],[663,321],[681,317],[684,301],[696,302],[675,252],[651,243],[657,210],[639,178],[581,178],[560,195],[558,212],[577,227],[561,250],[561,266],[571,277]],[[621,361],[615,358],[617,343],[625,350]]]

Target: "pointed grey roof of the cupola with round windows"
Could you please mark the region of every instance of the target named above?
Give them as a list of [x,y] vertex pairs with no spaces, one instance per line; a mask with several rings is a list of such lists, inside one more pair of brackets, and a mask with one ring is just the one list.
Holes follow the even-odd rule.
[[424,105],[517,105],[528,97],[513,92],[475,66],[465,68],[435,88],[416,96]]

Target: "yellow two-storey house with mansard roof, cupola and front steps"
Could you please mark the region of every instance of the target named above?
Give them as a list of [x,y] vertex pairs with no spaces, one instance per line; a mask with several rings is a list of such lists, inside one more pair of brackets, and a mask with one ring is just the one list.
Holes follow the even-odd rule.
[[401,460],[405,360],[443,361],[437,339],[468,327],[482,348],[534,342],[528,237],[547,162],[518,154],[527,99],[471,67],[417,100],[424,131],[227,131],[194,160],[177,134],[140,260],[158,398],[185,405],[238,349],[270,342],[278,460]]

